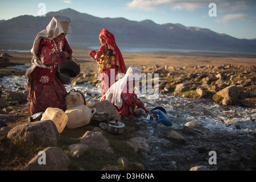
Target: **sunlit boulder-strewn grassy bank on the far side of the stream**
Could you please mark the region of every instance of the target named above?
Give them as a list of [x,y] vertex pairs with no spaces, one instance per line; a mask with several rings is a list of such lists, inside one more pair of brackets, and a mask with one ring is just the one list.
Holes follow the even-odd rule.
[[[138,66],[145,74],[159,74],[159,93],[170,93],[183,98],[211,98],[222,105],[238,105],[256,108],[256,66],[201,65],[194,67],[170,67],[154,65]],[[87,81],[99,84],[97,72],[85,68],[76,84]],[[155,85],[156,86],[156,85]]]

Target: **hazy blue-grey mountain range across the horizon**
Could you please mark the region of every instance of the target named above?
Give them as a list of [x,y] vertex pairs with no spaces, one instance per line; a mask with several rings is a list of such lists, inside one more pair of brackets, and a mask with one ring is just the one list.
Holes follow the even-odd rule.
[[237,39],[207,28],[185,27],[179,23],[156,24],[152,20],[137,22],[125,18],[98,18],[73,9],[49,12],[46,16],[22,15],[0,20],[0,43],[31,44],[32,47],[35,36],[46,29],[55,15],[71,19],[72,34],[67,35],[71,46],[100,46],[98,35],[102,28],[106,28],[114,34],[118,47],[256,52],[255,39]]

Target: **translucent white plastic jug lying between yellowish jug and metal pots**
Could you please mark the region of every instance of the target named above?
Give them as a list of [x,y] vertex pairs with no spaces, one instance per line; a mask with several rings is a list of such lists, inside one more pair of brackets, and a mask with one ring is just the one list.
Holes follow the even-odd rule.
[[80,105],[72,107],[65,111],[68,115],[67,126],[69,129],[75,129],[77,127],[88,125],[93,114],[96,113],[96,108],[90,109],[86,105]]

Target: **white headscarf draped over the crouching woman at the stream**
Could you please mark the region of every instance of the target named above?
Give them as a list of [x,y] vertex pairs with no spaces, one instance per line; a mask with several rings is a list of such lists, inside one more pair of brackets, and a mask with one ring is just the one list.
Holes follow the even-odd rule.
[[[116,81],[112,86],[110,86],[108,92],[104,95],[106,100],[112,102],[112,104],[122,107],[123,100],[121,97],[122,92],[126,93],[127,81],[139,81],[141,78],[141,69],[130,67],[127,69],[125,76]],[[133,93],[132,86],[129,86],[129,93]],[[104,97],[103,96],[103,97]]]

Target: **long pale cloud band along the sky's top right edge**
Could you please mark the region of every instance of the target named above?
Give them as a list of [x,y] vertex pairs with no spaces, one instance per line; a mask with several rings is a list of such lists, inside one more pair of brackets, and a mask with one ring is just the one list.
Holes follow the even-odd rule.
[[216,3],[217,10],[220,12],[245,10],[254,8],[256,2],[251,0],[133,0],[126,4],[130,9],[155,10],[169,7],[172,10],[188,10],[208,9],[209,3]]

